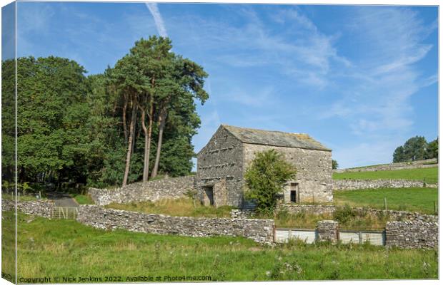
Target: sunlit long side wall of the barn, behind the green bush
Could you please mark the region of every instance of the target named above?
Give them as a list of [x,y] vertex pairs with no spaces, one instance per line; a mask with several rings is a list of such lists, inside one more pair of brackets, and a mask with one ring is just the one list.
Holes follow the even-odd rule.
[[244,143],[244,171],[257,152],[274,149],[297,169],[296,180],[289,181],[284,200],[290,201],[291,183],[298,183],[297,202],[332,201],[332,158],[327,150],[306,150],[295,147],[274,147]]

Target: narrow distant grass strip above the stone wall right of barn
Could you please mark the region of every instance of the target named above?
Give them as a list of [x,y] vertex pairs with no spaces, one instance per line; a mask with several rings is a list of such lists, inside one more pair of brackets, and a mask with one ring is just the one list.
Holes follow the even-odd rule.
[[407,179],[437,183],[438,167],[334,173],[334,179]]

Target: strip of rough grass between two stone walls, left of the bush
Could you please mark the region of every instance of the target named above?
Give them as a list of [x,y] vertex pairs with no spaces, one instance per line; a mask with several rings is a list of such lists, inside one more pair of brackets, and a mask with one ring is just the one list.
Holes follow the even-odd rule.
[[149,214],[167,214],[179,217],[231,217],[229,206],[205,207],[199,201],[191,198],[163,199],[157,202],[137,202],[129,204],[109,204],[112,209],[124,209],[126,211],[144,212]]

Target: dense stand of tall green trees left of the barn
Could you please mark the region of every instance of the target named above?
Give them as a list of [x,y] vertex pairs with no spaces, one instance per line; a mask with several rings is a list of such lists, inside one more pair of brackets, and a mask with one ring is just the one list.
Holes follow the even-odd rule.
[[[68,58],[18,58],[19,181],[106,187],[189,175],[196,102],[209,97],[208,75],[171,48],[169,38],[141,38],[92,76]],[[2,68],[2,88],[11,93],[2,97],[7,122],[14,118],[14,61]],[[3,127],[3,145],[11,145],[14,128]],[[12,171],[13,156],[4,154],[2,166]]]

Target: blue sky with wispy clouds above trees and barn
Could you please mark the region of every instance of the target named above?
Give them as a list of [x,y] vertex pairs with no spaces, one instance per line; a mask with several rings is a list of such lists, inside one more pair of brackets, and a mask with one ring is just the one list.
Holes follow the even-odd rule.
[[71,58],[88,74],[169,36],[209,73],[196,151],[221,123],[309,133],[340,167],[437,138],[435,6],[20,2],[18,15],[19,56]]

